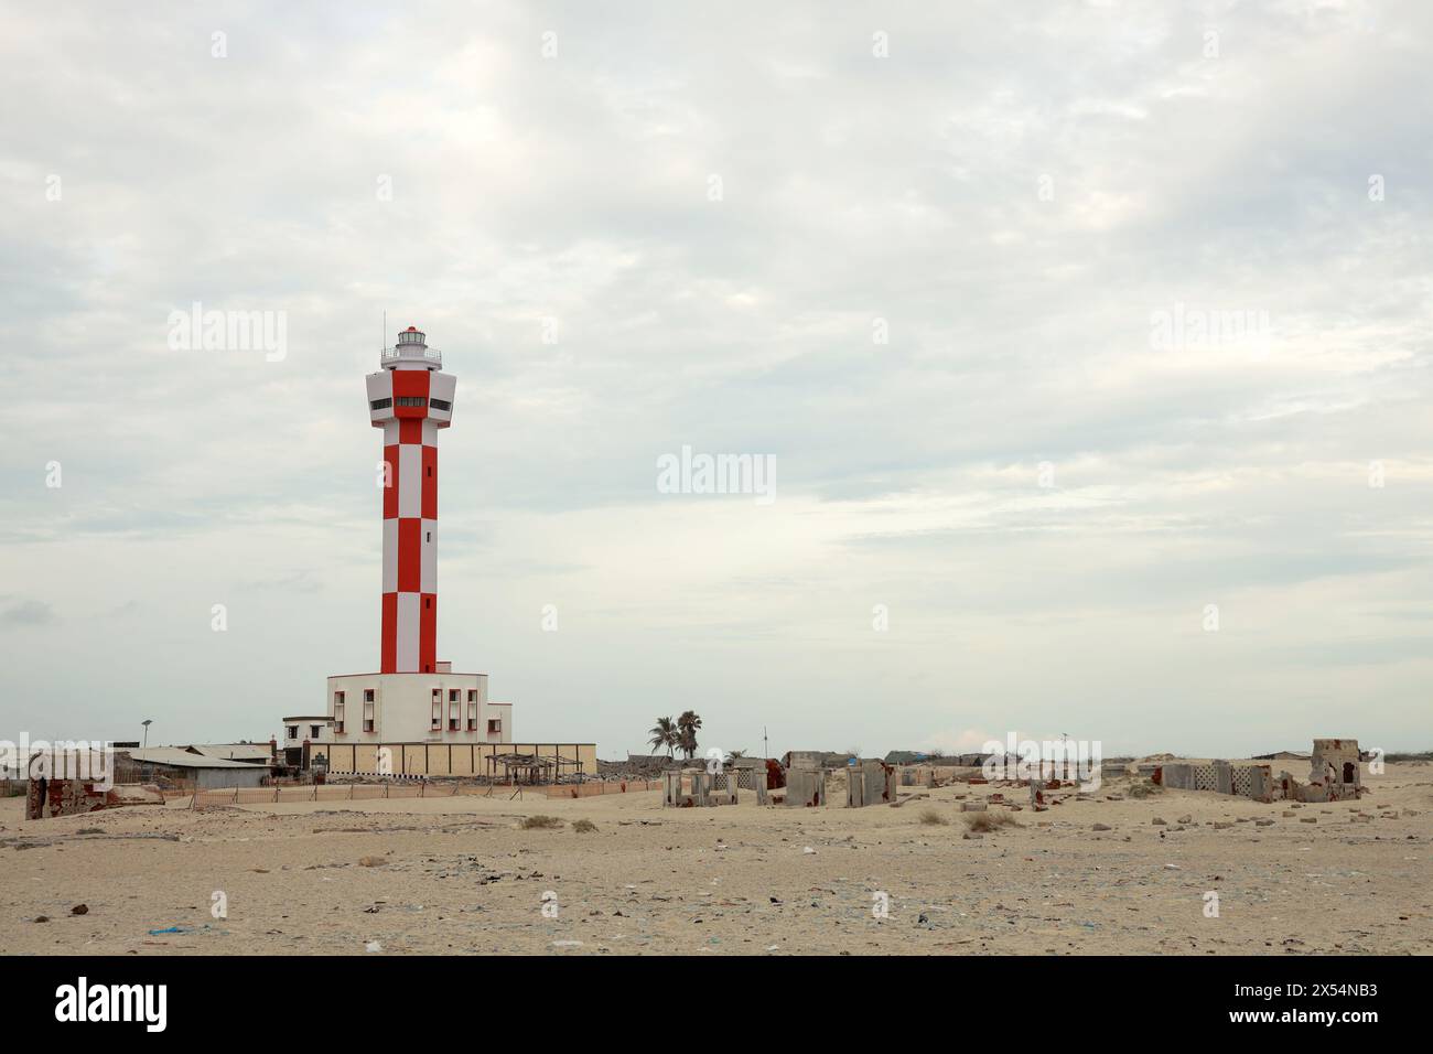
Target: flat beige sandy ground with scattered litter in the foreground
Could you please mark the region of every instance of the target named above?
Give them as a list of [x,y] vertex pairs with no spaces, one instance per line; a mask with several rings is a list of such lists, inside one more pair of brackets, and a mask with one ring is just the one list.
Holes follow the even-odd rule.
[[[1022,826],[979,839],[963,836],[962,796],[1027,792],[941,787],[856,810],[675,810],[659,792],[171,803],[39,822],[6,799],[0,952],[1429,954],[1433,766],[1369,784],[1357,804],[1290,807],[1109,800],[1128,780],[1106,780],[1093,800],[1025,809]],[[537,813],[565,823],[517,826]],[[226,918],[211,915],[215,891]],[[873,915],[878,892],[887,918]],[[171,926],[192,932],[150,934]]]

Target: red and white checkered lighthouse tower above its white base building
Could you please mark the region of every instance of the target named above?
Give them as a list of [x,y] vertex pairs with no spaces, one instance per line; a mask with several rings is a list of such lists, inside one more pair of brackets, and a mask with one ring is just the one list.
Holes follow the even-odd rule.
[[438,429],[457,377],[410,326],[368,374],[368,419],[383,429],[383,647],[380,673],[437,670]]

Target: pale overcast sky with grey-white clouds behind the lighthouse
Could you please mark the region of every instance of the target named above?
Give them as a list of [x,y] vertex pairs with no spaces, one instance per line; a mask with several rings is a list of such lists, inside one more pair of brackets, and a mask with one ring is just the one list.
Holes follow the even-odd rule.
[[[387,310],[519,740],[1433,746],[1429,4],[0,19],[0,736],[377,668]],[[659,492],[684,445],[775,500]]]

